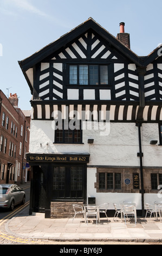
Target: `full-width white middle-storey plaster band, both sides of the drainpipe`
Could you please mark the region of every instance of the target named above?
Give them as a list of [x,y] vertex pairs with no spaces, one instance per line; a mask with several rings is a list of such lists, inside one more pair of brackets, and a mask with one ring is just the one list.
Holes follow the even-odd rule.
[[[89,153],[88,165],[139,166],[138,127],[134,123],[109,123],[105,130],[100,128],[98,123],[83,125],[83,144],[54,144],[53,121],[31,120],[29,152]],[[87,143],[89,138],[94,139],[93,144]],[[161,167],[158,124],[142,124],[141,139],[143,165]],[[151,140],[158,140],[157,145],[150,145]]]

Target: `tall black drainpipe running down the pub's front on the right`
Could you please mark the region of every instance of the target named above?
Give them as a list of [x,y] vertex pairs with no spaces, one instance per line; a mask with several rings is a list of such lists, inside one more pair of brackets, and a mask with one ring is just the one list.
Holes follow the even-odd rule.
[[144,176],[143,176],[143,164],[142,164],[142,157],[144,156],[142,153],[142,143],[141,143],[141,126],[142,126],[142,114],[145,107],[145,93],[144,93],[144,75],[146,73],[145,67],[139,67],[137,68],[138,78],[139,78],[139,97],[140,97],[140,103],[137,113],[137,120],[136,120],[136,126],[138,126],[138,138],[139,138],[139,153],[137,153],[137,156],[140,159],[140,178],[141,178],[141,204],[142,204],[142,217],[145,216],[145,210],[144,210]]

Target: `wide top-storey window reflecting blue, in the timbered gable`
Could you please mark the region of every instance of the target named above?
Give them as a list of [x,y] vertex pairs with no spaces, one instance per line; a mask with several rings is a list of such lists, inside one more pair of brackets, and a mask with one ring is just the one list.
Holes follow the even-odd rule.
[[69,84],[108,84],[108,65],[69,65]]

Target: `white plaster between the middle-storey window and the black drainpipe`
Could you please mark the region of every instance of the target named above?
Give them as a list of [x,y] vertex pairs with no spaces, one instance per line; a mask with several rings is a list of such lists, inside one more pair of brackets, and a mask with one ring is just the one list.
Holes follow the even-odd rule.
[[[101,133],[102,132],[102,136]],[[89,145],[89,165],[139,166],[138,129],[133,123],[110,123],[109,132],[83,131],[83,142],[93,138]]]

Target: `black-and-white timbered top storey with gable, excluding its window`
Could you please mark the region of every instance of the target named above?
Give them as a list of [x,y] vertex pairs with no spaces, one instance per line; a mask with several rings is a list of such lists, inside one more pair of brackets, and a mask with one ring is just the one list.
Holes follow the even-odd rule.
[[[19,62],[33,94],[33,118],[51,120],[55,105],[65,104],[83,110],[98,105],[97,111],[109,111],[111,121],[162,121],[162,58],[158,50],[138,57],[89,18]],[[69,64],[92,63],[109,65],[107,85],[69,84]],[[138,69],[145,69],[140,81]]]

